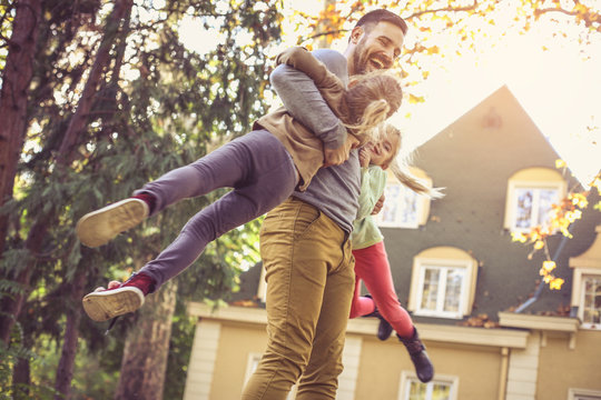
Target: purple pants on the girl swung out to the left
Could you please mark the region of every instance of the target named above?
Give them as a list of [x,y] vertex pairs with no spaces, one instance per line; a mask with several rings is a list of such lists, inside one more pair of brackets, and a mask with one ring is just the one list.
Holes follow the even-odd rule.
[[156,198],[152,214],[178,200],[219,188],[230,192],[194,216],[176,240],[139,272],[155,290],[189,267],[206,246],[286,200],[297,184],[296,167],[282,142],[266,130],[239,137],[201,159],[167,172],[135,192]]

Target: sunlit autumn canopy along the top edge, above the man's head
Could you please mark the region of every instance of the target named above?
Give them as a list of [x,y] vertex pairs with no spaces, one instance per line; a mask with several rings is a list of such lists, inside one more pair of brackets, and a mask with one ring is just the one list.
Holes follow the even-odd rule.
[[333,6],[324,0],[324,10],[317,16],[302,10],[290,16],[298,30],[297,43],[311,48],[315,39],[323,40],[324,36],[327,42],[342,39],[361,16],[374,8],[396,12],[410,27],[396,67],[402,70],[412,103],[425,100],[421,83],[433,72],[432,66],[444,69],[446,61],[477,52],[482,38],[489,39],[491,46],[506,32],[525,33],[541,22],[558,27],[550,42],[554,37],[565,37],[570,30],[587,48],[594,46],[601,34],[601,9],[589,1],[343,0]]

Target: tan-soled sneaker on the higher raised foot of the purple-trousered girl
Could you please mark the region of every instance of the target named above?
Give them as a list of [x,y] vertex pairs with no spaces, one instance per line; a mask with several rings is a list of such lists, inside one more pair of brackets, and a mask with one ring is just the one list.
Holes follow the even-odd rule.
[[125,199],[81,217],[77,237],[87,247],[107,243],[117,234],[139,224],[148,217],[148,204],[139,199]]

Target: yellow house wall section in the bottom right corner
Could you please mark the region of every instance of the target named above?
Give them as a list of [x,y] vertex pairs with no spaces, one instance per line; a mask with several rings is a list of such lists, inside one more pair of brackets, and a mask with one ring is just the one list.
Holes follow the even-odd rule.
[[570,388],[601,391],[601,332],[579,331],[573,350],[565,334],[548,336],[536,388],[538,400],[568,399]]

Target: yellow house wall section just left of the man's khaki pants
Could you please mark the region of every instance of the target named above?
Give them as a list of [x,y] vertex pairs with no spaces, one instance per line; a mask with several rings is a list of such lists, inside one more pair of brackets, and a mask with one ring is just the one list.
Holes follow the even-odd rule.
[[210,399],[239,399],[245,383],[248,357],[250,353],[262,354],[266,344],[267,334],[264,326],[223,323]]

